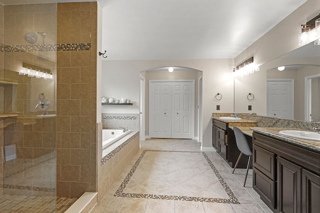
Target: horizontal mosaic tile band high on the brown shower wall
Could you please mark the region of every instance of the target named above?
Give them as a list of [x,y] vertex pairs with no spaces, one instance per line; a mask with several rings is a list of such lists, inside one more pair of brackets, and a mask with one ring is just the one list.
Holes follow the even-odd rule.
[[90,47],[90,43],[0,45],[0,52],[80,51]]

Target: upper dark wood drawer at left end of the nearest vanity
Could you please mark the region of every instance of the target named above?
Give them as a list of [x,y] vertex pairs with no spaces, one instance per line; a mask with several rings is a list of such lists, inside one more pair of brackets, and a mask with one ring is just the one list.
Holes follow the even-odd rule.
[[275,180],[274,175],[274,159],[275,155],[261,147],[256,145],[252,146],[253,149],[253,160],[252,165],[260,170],[271,180]]

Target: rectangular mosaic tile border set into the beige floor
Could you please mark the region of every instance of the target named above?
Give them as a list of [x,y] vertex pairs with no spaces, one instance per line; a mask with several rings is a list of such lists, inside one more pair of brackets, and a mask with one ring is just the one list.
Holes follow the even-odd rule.
[[[143,156],[146,152],[187,152],[187,153],[201,153],[213,173],[217,177],[218,181],[222,185],[224,191],[229,196],[229,199],[219,199],[219,198],[201,198],[201,197],[188,197],[188,196],[167,196],[167,195],[151,195],[151,194],[135,194],[135,193],[123,193],[124,188],[128,184],[130,178],[132,177],[134,171],[141,162]],[[188,151],[164,151],[164,150],[143,150],[139,158],[136,160],[135,164],[131,168],[130,172],[127,174],[115,194],[114,197],[125,197],[125,198],[146,198],[146,199],[160,199],[160,200],[174,200],[174,201],[195,201],[195,202],[206,202],[206,203],[223,203],[223,204],[240,204],[237,198],[234,196],[233,192],[230,190],[228,185],[225,183],[222,176],[219,174],[217,169],[214,167],[211,160],[204,152],[188,152]]]

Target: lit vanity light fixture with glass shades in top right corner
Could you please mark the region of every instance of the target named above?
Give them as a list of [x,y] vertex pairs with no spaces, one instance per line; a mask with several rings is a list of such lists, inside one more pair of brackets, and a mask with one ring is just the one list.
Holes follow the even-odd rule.
[[298,45],[307,44],[312,40],[315,40],[314,45],[320,45],[320,41],[317,42],[318,39],[315,39],[320,36],[320,14],[301,26],[301,30],[298,31]]

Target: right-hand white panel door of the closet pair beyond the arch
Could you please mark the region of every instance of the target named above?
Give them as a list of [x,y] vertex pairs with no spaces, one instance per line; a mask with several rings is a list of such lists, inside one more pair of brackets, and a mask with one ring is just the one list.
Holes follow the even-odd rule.
[[193,84],[172,82],[171,138],[192,139]]

